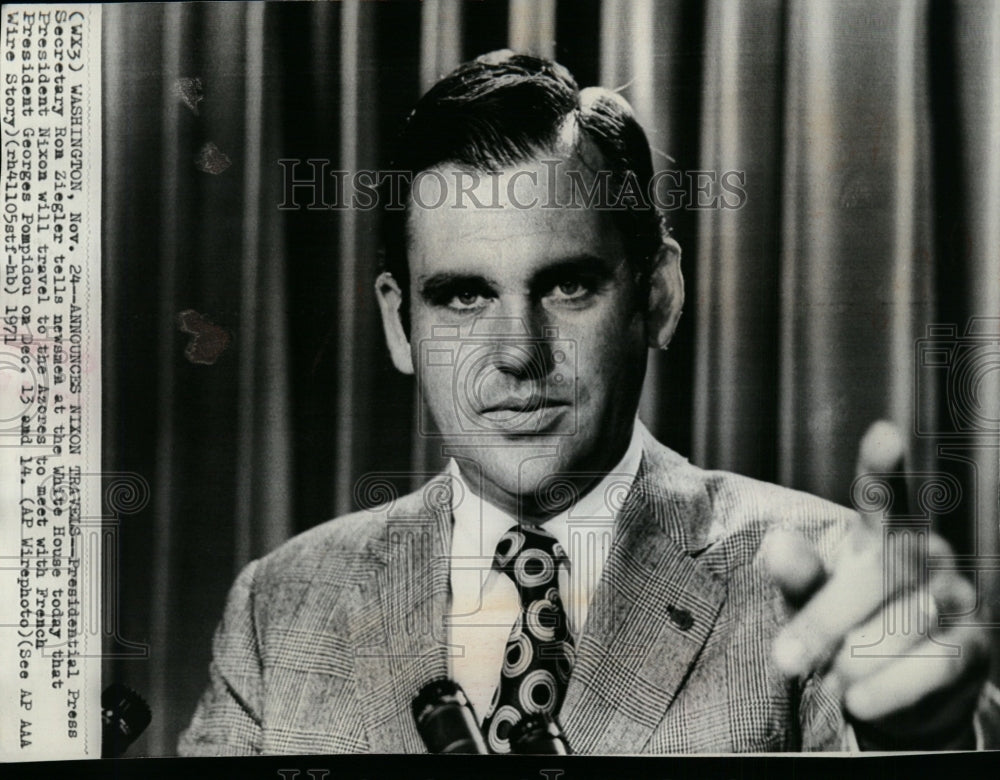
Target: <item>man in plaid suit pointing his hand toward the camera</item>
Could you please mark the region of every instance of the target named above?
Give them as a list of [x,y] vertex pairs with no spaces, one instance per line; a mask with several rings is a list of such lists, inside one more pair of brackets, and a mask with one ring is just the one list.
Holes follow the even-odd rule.
[[577,753],[987,744],[984,632],[882,630],[971,610],[970,585],[636,421],[684,293],[628,104],[497,52],[425,95],[400,149],[416,175],[394,179],[376,293],[451,464],[240,574],[181,752],[422,751],[411,702],[438,678],[498,753],[537,713]]

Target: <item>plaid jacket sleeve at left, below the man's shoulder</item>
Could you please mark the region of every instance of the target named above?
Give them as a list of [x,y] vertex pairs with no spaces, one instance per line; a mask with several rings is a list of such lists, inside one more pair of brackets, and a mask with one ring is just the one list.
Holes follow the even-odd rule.
[[263,675],[254,618],[257,561],[236,578],[212,641],[208,688],[187,730],[182,756],[242,756],[261,751]]

